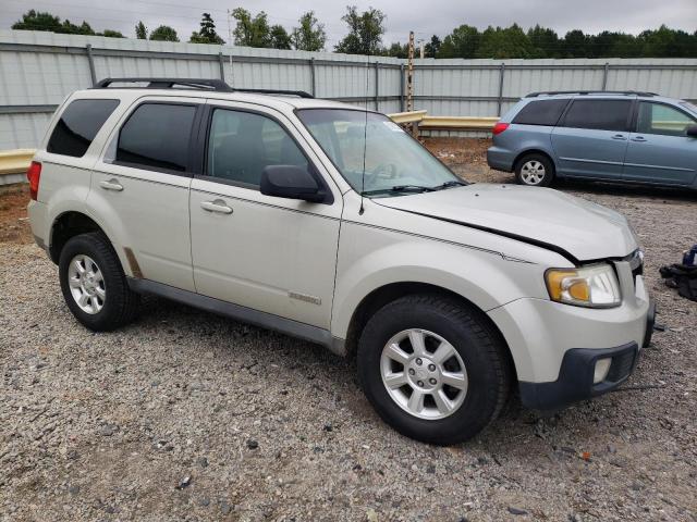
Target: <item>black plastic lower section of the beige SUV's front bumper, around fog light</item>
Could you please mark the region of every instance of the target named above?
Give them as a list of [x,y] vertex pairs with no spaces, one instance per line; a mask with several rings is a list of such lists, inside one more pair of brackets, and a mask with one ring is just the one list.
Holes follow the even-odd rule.
[[[526,408],[554,410],[590,399],[620,386],[634,371],[640,349],[636,343],[615,348],[572,348],[564,353],[559,378],[552,383],[519,383]],[[608,376],[594,384],[596,361],[612,358]]]

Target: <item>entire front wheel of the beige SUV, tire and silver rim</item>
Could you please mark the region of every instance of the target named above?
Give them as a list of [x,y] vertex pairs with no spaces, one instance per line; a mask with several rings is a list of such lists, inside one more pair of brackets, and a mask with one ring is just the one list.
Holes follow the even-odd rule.
[[477,310],[448,297],[406,296],[368,321],[358,343],[358,377],[396,431],[456,444],[501,411],[510,387],[504,350]]

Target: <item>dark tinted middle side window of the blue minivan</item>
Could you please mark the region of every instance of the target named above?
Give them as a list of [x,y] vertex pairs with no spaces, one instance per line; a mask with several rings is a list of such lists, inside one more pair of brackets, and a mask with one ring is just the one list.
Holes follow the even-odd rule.
[[572,102],[564,127],[626,130],[632,100],[579,100]]

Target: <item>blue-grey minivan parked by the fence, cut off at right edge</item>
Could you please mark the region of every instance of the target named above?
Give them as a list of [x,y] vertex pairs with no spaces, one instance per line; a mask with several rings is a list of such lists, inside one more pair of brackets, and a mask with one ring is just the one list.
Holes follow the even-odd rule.
[[697,107],[650,92],[534,92],[493,128],[489,166],[554,178],[697,189]]

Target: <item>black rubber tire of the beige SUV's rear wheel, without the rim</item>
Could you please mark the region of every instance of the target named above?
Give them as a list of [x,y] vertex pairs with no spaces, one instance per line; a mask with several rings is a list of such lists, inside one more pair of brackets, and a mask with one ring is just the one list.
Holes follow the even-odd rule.
[[[97,313],[83,311],[71,293],[69,265],[76,256],[91,258],[103,276],[106,298]],[[136,316],[139,296],[129,288],[119,257],[102,233],[80,234],[71,238],[61,251],[58,273],[68,308],[87,328],[108,332],[130,323]]]

